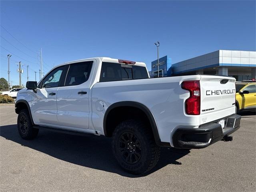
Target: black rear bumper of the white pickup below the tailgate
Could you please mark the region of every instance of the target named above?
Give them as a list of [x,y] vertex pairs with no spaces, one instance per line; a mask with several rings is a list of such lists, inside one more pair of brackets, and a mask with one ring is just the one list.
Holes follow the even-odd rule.
[[199,128],[178,128],[173,136],[173,145],[176,148],[205,148],[240,128],[240,115],[232,115],[225,119],[225,128],[212,122]]

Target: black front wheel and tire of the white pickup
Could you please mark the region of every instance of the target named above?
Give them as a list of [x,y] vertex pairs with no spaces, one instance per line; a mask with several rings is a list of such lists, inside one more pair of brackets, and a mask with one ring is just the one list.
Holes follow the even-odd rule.
[[22,139],[34,139],[38,134],[38,129],[33,128],[32,121],[27,109],[22,109],[17,120],[18,132]]

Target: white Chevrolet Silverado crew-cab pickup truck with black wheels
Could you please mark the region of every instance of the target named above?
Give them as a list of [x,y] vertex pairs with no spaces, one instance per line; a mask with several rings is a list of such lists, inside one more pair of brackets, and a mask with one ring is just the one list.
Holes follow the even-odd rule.
[[22,138],[35,138],[40,129],[112,137],[120,166],[141,174],[157,164],[160,146],[204,148],[232,140],[241,118],[235,94],[235,78],[149,78],[145,63],[97,57],[27,82],[15,110]]

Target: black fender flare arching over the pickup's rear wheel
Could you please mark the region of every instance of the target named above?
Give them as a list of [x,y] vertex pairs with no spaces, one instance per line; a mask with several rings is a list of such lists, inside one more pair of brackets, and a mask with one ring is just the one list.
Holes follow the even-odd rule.
[[106,130],[106,120],[107,120],[107,117],[108,117],[108,113],[116,107],[125,107],[125,106],[139,108],[140,110],[142,110],[146,114],[148,120],[150,121],[150,126],[152,128],[152,132],[153,132],[156,144],[160,144],[161,140],[160,140],[160,136],[159,136],[159,133],[158,133],[158,128],[156,126],[156,121],[154,119],[154,116],[153,116],[152,112],[145,105],[143,105],[139,102],[134,102],[134,101],[116,102],[116,103],[114,103],[114,104],[112,104],[108,107],[108,109],[106,110],[106,112],[104,114],[104,119],[103,119],[104,135],[108,136],[107,130]]

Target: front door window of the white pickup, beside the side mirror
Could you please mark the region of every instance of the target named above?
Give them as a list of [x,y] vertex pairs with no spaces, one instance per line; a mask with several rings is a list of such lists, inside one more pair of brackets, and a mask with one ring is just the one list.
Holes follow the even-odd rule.
[[[63,84],[67,66],[60,66],[50,72],[40,83],[40,88],[59,87]],[[42,86],[41,86],[42,85]]]

